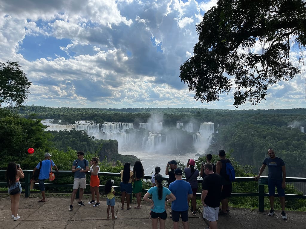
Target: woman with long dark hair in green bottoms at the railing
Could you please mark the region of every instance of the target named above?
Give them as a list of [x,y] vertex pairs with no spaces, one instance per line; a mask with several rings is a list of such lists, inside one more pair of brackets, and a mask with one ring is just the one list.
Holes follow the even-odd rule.
[[133,185],[133,193],[136,194],[137,206],[135,209],[141,208],[141,192],[142,192],[142,178],[144,178],[144,167],[140,161],[136,161],[133,167],[134,173],[134,185]]

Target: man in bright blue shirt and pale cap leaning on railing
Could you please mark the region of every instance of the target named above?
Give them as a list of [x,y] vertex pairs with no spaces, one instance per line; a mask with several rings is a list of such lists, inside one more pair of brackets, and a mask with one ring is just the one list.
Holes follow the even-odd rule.
[[[54,162],[51,160],[52,155],[49,153],[45,153],[45,159],[41,162],[41,168],[39,171],[39,176],[38,176],[38,184],[39,184],[39,189],[41,192],[41,195],[43,198],[39,202],[46,202],[45,198],[45,180],[49,179],[49,173],[51,171],[51,167],[55,168],[55,171],[58,171],[58,168],[54,164]],[[40,162],[36,165],[36,167],[33,170],[33,175],[35,173],[36,169],[39,169],[40,167]]]

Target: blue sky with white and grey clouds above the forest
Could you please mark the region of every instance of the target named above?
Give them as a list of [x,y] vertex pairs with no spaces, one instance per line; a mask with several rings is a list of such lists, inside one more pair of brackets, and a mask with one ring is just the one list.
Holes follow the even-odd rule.
[[[0,0],[0,61],[19,61],[32,82],[25,105],[235,109],[232,93],[201,103],[179,78],[196,25],[216,2]],[[290,56],[297,65],[299,55]],[[305,108],[301,70],[239,109]]]

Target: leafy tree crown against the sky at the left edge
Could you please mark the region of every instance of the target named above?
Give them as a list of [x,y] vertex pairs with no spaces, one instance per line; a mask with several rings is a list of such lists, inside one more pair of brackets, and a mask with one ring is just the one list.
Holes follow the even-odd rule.
[[29,87],[25,73],[18,62],[0,61],[0,107],[19,107],[28,98]]

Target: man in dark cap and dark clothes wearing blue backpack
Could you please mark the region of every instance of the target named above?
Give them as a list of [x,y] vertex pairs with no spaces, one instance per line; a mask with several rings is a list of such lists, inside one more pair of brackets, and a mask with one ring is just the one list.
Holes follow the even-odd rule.
[[222,194],[221,194],[222,209],[219,211],[219,215],[225,215],[230,211],[228,202],[232,194],[232,179],[230,179],[229,174],[226,172],[226,167],[227,164],[231,166],[232,162],[225,157],[224,150],[219,150],[218,155],[220,160],[218,160],[216,163],[216,173],[220,174],[220,176],[222,177],[222,185],[223,185]]

